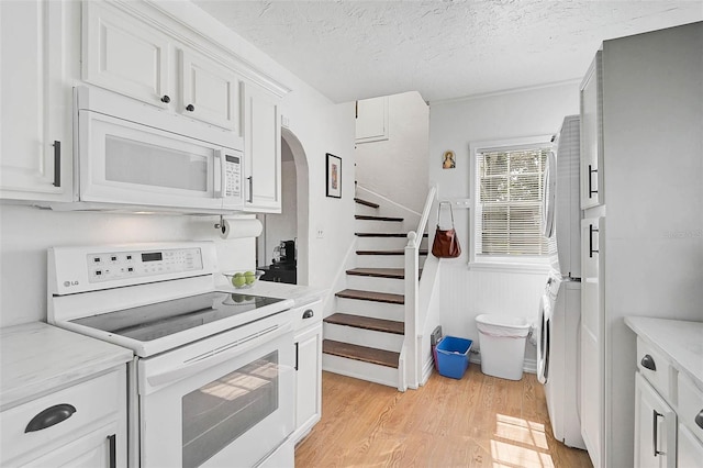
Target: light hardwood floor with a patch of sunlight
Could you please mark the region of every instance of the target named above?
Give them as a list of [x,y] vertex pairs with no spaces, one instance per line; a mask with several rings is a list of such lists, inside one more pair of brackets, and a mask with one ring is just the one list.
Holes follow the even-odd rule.
[[322,420],[295,447],[295,467],[591,467],[585,452],[551,435],[544,387],[484,376],[433,374],[398,390],[331,372]]

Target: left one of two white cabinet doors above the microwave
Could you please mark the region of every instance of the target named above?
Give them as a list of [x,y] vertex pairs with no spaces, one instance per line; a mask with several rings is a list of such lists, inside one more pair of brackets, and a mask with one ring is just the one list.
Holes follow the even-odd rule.
[[167,108],[169,41],[107,2],[83,2],[83,80],[121,94]]

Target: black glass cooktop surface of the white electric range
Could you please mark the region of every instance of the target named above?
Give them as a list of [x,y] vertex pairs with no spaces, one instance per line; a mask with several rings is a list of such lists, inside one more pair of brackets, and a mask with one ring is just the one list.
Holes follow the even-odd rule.
[[140,342],[150,342],[281,301],[283,299],[212,291],[70,322]]

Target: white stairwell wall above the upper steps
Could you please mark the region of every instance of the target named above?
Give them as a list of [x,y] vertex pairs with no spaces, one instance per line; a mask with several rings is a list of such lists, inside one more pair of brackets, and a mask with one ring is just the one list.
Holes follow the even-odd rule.
[[415,91],[390,96],[388,105],[389,140],[357,143],[356,179],[359,186],[422,212],[427,197],[429,110]]

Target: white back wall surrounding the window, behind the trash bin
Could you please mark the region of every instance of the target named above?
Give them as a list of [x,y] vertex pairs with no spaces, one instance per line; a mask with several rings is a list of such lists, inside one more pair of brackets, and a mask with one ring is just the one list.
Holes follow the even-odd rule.
[[[577,82],[432,102],[428,174],[429,180],[437,183],[438,198],[472,197],[471,142],[554,134],[566,115],[578,112]],[[442,154],[448,149],[456,154],[455,169],[442,169]],[[438,294],[444,334],[473,339],[478,345],[475,325],[478,314],[496,313],[536,320],[546,275],[469,270],[470,210],[455,208],[454,214],[462,254],[458,259],[440,260]],[[436,224],[436,210],[429,224],[431,227]],[[432,237],[433,232],[429,234]],[[534,346],[527,346],[525,358],[534,365]]]

